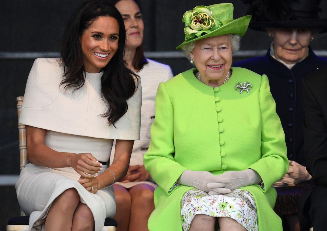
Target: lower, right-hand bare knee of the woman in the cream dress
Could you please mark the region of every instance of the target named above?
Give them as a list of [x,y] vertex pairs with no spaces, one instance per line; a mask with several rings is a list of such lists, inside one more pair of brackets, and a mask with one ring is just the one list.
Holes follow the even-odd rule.
[[94,227],[94,217],[87,205],[79,203],[74,214],[74,230],[92,230]]

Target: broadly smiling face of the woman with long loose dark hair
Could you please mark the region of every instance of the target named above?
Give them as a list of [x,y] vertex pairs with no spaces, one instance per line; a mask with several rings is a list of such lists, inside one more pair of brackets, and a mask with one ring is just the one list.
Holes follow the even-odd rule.
[[118,48],[119,25],[116,19],[101,16],[79,38],[86,72],[99,73]]

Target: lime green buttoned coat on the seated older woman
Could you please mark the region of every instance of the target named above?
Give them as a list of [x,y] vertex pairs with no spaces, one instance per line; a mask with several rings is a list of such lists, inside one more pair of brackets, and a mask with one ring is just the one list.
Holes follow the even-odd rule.
[[[275,111],[268,78],[244,68],[231,68],[231,78],[213,89],[194,76],[195,69],[160,83],[155,120],[144,165],[159,185],[150,231],[182,231],[181,198],[193,189],[172,188],[185,170],[226,171],[253,169],[264,187],[243,187],[254,197],[259,231],[279,231],[282,222],[273,211],[276,190],[272,184],[288,170],[284,131]],[[248,81],[248,93],[235,91]]]

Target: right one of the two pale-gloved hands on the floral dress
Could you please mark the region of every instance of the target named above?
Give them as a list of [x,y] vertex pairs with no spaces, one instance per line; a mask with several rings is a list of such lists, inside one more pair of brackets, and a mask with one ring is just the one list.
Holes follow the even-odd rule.
[[[230,179],[227,182],[225,179]],[[228,171],[215,177],[213,183],[208,183],[209,195],[220,194],[221,181],[224,179],[225,188],[234,190],[240,187],[257,184],[261,181],[260,175],[253,169],[246,169],[243,171]]]

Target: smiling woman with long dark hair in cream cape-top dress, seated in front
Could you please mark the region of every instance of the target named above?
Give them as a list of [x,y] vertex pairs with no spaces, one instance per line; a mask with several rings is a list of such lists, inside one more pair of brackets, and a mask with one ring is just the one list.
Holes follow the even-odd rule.
[[140,139],[142,90],[123,60],[125,37],[116,8],[87,1],[64,32],[62,58],[33,64],[19,121],[30,163],[16,184],[31,230],[98,231],[115,214],[110,186]]

